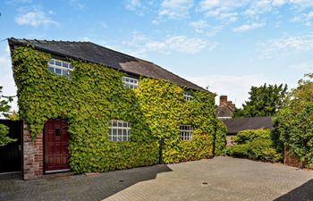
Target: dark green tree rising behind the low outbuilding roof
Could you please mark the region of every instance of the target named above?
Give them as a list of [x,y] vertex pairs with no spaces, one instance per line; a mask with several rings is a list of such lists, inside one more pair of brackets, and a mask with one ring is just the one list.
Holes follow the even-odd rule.
[[287,85],[266,85],[250,88],[249,101],[236,108],[233,117],[273,116],[285,105]]

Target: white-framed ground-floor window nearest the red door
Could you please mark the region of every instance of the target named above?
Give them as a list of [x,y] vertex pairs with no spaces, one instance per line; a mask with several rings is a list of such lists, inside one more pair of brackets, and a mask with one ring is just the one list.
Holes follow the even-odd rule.
[[109,139],[114,142],[129,141],[131,136],[131,125],[128,121],[111,120],[108,122]]

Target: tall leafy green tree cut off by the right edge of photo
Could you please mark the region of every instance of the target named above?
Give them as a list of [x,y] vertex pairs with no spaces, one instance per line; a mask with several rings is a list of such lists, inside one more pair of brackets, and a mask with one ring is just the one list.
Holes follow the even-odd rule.
[[275,117],[275,129],[284,146],[313,168],[313,73],[299,80],[287,104]]

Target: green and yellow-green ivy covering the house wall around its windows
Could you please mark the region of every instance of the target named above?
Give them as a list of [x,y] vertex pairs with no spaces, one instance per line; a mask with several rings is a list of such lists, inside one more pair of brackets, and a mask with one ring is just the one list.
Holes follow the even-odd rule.
[[[165,138],[165,163],[224,154],[224,125],[216,119],[214,94],[141,77],[136,89],[124,88],[123,71],[102,64],[63,58],[71,75],[48,71],[51,54],[32,46],[13,49],[13,76],[21,120],[36,140],[49,119],[69,124],[73,172],[107,172],[158,163],[158,139]],[[192,96],[183,98],[184,91]],[[128,121],[130,141],[108,138],[110,120]],[[182,140],[180,125],[192,125],[192,140]],[[216,143],[215,143],[216,142]]]

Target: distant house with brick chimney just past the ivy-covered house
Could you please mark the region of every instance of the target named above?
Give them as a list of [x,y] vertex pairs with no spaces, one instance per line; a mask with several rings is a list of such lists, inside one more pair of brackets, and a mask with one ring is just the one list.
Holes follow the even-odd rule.
[[216,116],[220,120],[232,119],[234,109],[233,101],[227,101],[227,96],[220,96],[219,105],[216,107]]

